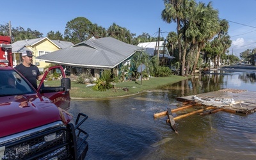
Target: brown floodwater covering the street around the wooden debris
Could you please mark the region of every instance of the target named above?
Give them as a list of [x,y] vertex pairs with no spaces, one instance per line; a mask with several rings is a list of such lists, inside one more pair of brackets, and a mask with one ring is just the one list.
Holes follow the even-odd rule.
[[254,72],[216,71],[132,97],[74,99],[70,112],[88,115],[86,159],[256,159],[256,113],[187,116],[175,121],[179,134],[167,116],[154,119],[154,113],[177,108],[177,97],[223,88],[256,93],[255,83]]

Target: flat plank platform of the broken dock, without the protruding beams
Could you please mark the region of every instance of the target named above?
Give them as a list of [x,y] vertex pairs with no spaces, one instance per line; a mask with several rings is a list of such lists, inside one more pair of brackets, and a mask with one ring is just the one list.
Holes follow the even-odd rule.
[[203,106],[212,106],[218,111],[248,115],[256,111],[256,92],[247,90],[223,89],[215,92],[178,97],[182,102],[195,102]]

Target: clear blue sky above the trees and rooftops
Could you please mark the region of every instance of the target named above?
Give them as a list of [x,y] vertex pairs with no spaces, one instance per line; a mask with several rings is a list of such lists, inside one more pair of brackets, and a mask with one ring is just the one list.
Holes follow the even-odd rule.
[[[161,19],[164,9],[163,0],[10,0],[1,6],[0,24],[9,21],[13,28],[40,31],[47,35],[49,31],[64,33],[68,21],[76,17],[86,17],[106,29],[115,22],[129,29],[136,36],[143,32],[166,38],[168,32],[176,31],[176,24],[167,24]],[[196,2],[199,2],[196,0]],[[209,3],[209,0],[202,0]],[[2,3],[3,4],[3,3]],[[256,0],[212,0],[212,6],[219,11],[221,19],[229,20],[228,34],[232,46],[230,54],[239,55],[246,49],[256,48]]]

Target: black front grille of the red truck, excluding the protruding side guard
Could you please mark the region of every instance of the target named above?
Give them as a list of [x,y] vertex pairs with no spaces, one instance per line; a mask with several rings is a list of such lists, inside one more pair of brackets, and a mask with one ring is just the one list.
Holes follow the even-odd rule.
[[[59,122],[60,123],[60,122]],[[67,127],[45,128],[22,136],[17,136],[8,143],[0,143],[4,147],[5,159],[73,159],[74,153],[71,132]]]

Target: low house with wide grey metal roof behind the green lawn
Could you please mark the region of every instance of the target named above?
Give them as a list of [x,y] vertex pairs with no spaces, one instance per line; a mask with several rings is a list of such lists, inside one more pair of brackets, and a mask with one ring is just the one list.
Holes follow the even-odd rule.
[[136,51],[141,51],[141,47],[111,37],[92,37],[71,47],[37,56],[36,59],[63,65],[71,74],[90,69],[93,76],[99,77],[104,69],[118,70],[122,65],[129,65]]

